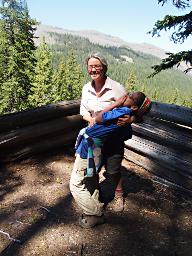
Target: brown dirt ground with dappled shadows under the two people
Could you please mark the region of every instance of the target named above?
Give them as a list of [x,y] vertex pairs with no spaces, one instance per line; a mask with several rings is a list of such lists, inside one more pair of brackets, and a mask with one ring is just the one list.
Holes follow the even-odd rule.
[[[73,161],[60,152],[1,166],[0,256],[192,255],[191,197],[127,161],[124,212],[106,211],[105,224],[79,227],[69,192]],[[109,197],[103,177],[101,186]]]

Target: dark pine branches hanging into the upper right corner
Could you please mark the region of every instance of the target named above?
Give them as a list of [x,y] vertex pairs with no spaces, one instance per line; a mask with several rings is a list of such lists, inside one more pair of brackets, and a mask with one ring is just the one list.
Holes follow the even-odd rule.
[[[158,3],[164,5],[168,0],[158,0]],[[172,0],[173,5],[178,9],[186,9],[191,6],[189,0]],[[183,43],[192,35],[192,11],[187,14],[180,16],[166,15],[163,20],[158,20],[152,31],[149,33],[152,36],[160,36],[162,30],[174,29],[174,32],[171,35],[171,40],[174,43]],[[192,69],[192,50],[181,51],[178,53],[167,53],[168,57],[163,59],[159,65],[155,65],[152,68],[154,72],[150,76],[154,76],[161,72],[162,70],[172,68],[175,65],[179,66],[181,62],[186,62],[188,68],[185,69],[185,72],[188,72]]]

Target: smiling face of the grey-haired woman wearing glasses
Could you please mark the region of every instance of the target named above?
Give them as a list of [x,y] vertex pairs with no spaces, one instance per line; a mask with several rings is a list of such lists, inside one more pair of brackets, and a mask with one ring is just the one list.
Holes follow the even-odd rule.
[[87,63],[87,70],[92,80],[100,80],[104,77],[103,65],[100,60],[90,58]]

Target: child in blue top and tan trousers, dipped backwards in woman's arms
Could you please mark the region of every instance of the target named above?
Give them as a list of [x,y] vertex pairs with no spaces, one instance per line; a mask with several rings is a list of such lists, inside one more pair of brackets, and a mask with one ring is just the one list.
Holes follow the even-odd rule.
[[[101,148],[106,136],[117,132],[124,140],[131,138],[131,125],[118,125],[118,118],[124,115],[142,116],[150,106],[150,100],[141,92],[125,95],[101,111],[92,127],[82,129],[76,141],[76,160],[70,180],[70,190],[83,209],[79,224],[85,228],[104,222],[103,203],[99,201],[98,175],[102,165]],[[92,192],[86,185],[86,178],[94,181]]]

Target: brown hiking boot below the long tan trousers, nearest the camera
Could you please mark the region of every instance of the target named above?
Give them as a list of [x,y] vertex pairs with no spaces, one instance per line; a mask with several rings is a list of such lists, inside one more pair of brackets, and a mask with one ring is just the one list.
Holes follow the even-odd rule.
[[97,225],[103,224],[104,222],[104,215],[95,216],[82,214],[82,216],[79,217],[79,225],[83,228],[93,228]]

